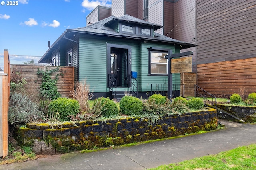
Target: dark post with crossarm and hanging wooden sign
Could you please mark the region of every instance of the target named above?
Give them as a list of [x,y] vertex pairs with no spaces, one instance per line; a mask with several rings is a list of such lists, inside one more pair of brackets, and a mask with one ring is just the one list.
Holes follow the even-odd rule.
[[[166,55],[164,58],[168,59],[168,97],[169,97],[169,99],[171,99],[173,97],[173,95],[172,95],[172,73],[186,72],[186,71],[192,72],[192,58],[189,60],[186,60],[187,57],[181,58],[181,59],[175,59],[176,61],[174,63],[172,63],[171,59],[174,57],[193,55],[193,51],[172,54],[172,50],[169,50],[168,54],[169,55]],[[171,66],[172,64],[173,64],[174,69]],[[189,66],[189,68],[187,68],[187,66]],[[175,67],[180,68],[180,70],[175,69]]]

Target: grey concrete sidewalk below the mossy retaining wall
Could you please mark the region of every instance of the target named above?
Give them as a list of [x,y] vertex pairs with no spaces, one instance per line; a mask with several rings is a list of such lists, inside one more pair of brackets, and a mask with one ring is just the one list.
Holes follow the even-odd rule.
[[1,165],[0,169],[147,169],[256,143],[256,125],[221,122],[224,129],[209,133],[92,153],[48,156]]

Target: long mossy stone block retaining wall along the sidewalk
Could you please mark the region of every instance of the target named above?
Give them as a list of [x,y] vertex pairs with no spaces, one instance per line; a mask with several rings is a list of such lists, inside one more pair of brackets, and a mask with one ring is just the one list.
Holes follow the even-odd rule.
[[18,130],[18,141],[33,147],[36,154],[59,154],[75,150],[109,147],[139,141],[166,138],[217,127],[216,109],[165,115],[157,123],[128,117],[101,121],[66,122],[62,125],[28,123]]

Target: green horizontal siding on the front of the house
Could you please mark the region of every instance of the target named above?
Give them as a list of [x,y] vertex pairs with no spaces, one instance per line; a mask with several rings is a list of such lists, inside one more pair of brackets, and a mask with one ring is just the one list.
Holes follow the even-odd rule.
[[[90,41],[88,41],[90,39]],[[174,46],[140,43],[138,41],[112,38],[111,40],[102,37],[81,37],[79,49],[79,70],[80,79],[86,79],[93,92],[108,92],[107,88],[107,66],[106,66],[106,46],[109,44],[130,45],[132,55],[132,71],[137,72],[138,91],[149,92],[150,84],[165,84],[168,76],[148,76],[148,48],[160,47],[175,50]],[[180,84],[180,74],[173,75],[173,83]]]

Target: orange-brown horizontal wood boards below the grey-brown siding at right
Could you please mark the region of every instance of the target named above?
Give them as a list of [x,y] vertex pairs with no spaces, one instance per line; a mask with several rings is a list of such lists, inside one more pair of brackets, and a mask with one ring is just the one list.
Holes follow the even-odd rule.
[[256,58],[197,65],[198,86],[214,95],[256,92]]

